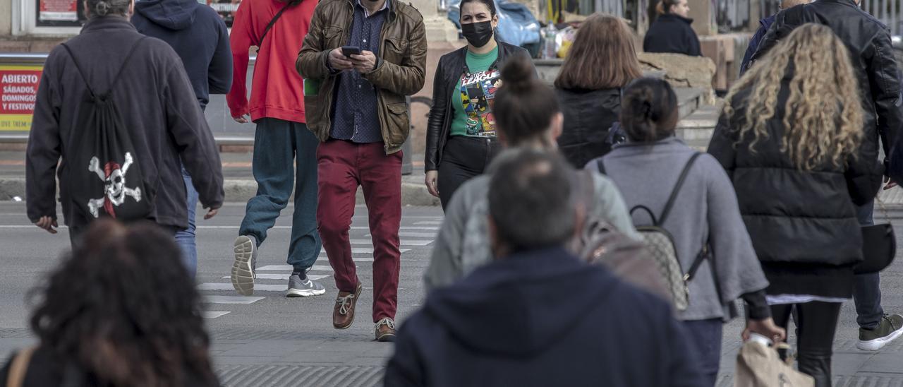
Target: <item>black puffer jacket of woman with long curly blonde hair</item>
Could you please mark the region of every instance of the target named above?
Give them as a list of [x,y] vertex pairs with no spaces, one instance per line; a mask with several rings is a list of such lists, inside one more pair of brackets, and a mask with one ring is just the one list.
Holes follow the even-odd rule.
[[768,294],[852,296],[852,265],[862,260],[860,223],[853,204],[868,203],[881,184],[874,159],[849,157],[811,171],[796,168],[780,151],[789,76],[778,94],[768,140],[749,150],[752,135],[739,138],[749,90],[732,99],[736,109],[715,127],[709,153],[721,162],[737,192],[740,213],[762,262]]

